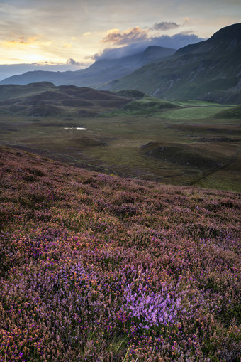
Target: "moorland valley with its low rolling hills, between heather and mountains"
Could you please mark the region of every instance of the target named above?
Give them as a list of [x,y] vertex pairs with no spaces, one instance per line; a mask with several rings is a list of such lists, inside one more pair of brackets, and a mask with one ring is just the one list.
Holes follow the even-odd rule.
[[0,90],[1,144],[107,174],[241,190],[240,105],[49,82]]

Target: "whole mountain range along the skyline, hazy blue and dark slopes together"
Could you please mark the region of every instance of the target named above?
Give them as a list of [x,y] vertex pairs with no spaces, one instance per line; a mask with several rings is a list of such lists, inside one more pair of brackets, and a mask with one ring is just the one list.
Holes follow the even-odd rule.
[[123,58],[99,58],[85,70],[27,72],[3,84],[49,81],[99,90],[138,90],[162,99],[241,103],[241,23],[221,28],[206,41],[179,50],[147,47]]

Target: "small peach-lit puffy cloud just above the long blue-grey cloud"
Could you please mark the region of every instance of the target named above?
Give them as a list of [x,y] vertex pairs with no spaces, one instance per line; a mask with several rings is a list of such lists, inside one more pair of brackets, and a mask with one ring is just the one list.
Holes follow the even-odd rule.
[[119,31],[118,29],[111,29],[108,31],[101,43],[115,43],[116,45],[124,45],[129,43],[136,43],[138,41],[145,41],[148,38],[148,31],[142,30],[139,26],[128,29],[126,31]]

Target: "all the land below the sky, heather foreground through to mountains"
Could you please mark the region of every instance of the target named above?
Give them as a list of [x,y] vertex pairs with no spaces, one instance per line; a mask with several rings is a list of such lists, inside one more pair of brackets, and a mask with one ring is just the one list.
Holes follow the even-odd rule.
[[1,362],[240,361],[240,45],[1,82]]

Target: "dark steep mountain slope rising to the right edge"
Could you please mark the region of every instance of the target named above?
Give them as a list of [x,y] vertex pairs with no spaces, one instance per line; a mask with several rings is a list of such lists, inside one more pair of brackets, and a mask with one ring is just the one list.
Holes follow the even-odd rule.
[[241,23],[207,41],[181,48],[169,60],[135,70],[106,89],[134,89],[163,99],[241,103]]

